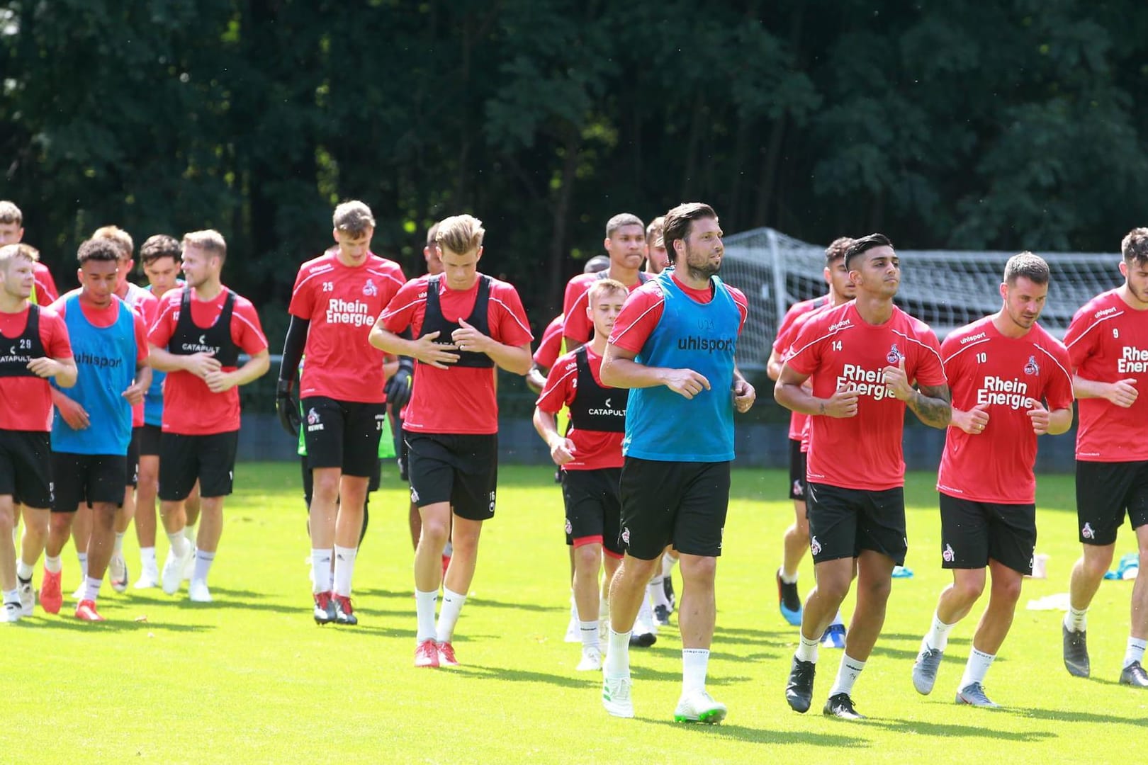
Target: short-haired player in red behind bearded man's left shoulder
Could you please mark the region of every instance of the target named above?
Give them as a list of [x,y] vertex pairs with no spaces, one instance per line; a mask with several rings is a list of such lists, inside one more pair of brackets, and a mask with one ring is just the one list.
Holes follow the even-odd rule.
[[589,342],[594,326],[585,315],[585,291],[598,279],[613,279],[626,284],[631,292],[649,280],[642,273],[642,261],[646,256],[645,225],[641,218],[621,212],[606,221],[606,239],[603,247],[610,256],[610,267],[597,274],[579,274],[566,283],[563,297],[563,313],[566,323],[563,336],[566,350]]

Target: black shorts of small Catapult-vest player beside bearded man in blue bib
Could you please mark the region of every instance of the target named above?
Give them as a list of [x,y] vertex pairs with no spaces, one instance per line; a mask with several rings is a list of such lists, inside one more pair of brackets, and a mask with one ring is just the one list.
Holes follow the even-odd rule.
[[614,557],[622,554],[622,469],[563,470],[566,544],[600,544]]

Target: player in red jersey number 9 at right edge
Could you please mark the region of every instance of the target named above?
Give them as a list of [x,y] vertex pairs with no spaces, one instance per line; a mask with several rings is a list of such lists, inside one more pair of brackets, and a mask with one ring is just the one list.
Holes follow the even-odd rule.
[[1120,243],[1124,283],[1084,305],[1064,334],[1072,388],[1080,399],[1077,429],[1077,521],[1084,554],[1072,568],[1069,611],[1062,627],[1064,666],[1088,677],[1087,622],[1112,563],[1125,514],[1137,536],[1140,569],[1120,682],[1148,688],[1148,228]]

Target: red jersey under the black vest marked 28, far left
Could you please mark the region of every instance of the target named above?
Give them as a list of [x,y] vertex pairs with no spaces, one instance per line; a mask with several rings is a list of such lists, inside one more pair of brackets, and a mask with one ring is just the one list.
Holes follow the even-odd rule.
[[[0,312],[0,356],[8,352],[10,343],[24,334],[28,313]],[[40,343],[49,359],[72,358],[68,327],[59,313],[48,306],[40,310]],[[52,430],[52,387],[44,377],[0,377],[0,430]]]

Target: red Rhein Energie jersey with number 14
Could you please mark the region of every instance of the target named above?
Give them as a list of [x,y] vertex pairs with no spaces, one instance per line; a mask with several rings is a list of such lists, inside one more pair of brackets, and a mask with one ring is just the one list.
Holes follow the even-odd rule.
[[862,491],[905,485],[905,403],[882,381],[882,369],[901,360],[910,383],[945,384],[937,335],[895,305],[881,325],[867,323],[853,302],[806,321],[785,364],[809,375],[817,398],[840,385],[860,392],[856,415],[809,417],[810,482]]

